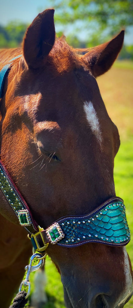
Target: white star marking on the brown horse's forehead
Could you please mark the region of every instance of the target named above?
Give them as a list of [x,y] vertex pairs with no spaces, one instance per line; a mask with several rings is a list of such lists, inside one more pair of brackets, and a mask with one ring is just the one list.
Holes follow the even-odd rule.
[[102,142],[101,128],[100,128],[99,120],[97,117],[97,112],[94,109],[92,102],[84,103],[84,111],[85,111],[89,126],[91,128],[91,131],[96,136],[97,140],[101,143]]

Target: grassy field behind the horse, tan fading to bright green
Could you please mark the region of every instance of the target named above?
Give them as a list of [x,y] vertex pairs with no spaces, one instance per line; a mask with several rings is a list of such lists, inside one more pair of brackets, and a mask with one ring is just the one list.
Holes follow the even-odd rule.
[[[115,158],[114,180],[116,196],[124,199],[127,221],[131,230],[131,241],[127,245],[133,265],[133,63],[116,62],[108,73],[98,78],[97,82],[105,102],[108,114],[117,125],[120,133],[121,145]],[[45,308],[65,308],[63,301],[63,286],[60,276],[46,258],[48,303]],[[31,289],[33,291],[33,276],[31,274]],[[125,308],[133,307],[133,298]]]

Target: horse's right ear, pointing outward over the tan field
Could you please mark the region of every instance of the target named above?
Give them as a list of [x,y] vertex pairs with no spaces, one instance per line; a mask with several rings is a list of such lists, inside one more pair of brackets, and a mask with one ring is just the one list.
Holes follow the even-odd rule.
[[94,47],[82,56],[85,65],[88,66],[96,78],[110,69],[116,60],[124,41],[124,30],[108,43]]

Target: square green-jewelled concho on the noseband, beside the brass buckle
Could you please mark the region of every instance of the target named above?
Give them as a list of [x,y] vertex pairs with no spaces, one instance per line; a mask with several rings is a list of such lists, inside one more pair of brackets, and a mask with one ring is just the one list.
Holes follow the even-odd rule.
[[55,224],[51,225],[47,229],[46,234],[51,241],[51,244],[56,244],[65,236],[60,225],[57,222],[55,222]]

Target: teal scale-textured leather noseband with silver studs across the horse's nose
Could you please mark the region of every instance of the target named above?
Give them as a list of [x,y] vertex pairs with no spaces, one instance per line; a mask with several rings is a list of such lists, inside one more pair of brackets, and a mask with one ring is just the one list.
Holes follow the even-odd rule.
[[65,247],[89,242],[125,246],[130,241],[125,206],[119,197],[111,198],[88,215],[63,217],[45,232],[51,244]]

